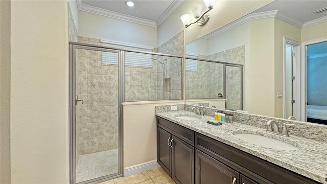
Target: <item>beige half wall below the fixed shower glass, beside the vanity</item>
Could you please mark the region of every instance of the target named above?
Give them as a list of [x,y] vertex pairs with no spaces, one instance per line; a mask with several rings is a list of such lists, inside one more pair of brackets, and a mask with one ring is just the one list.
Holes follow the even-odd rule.
[[[123,168],[157,159],[156,105],[183,104],[184,101],[160,101],[123,106]],[[133,105],[134,104],[134,105]]]

